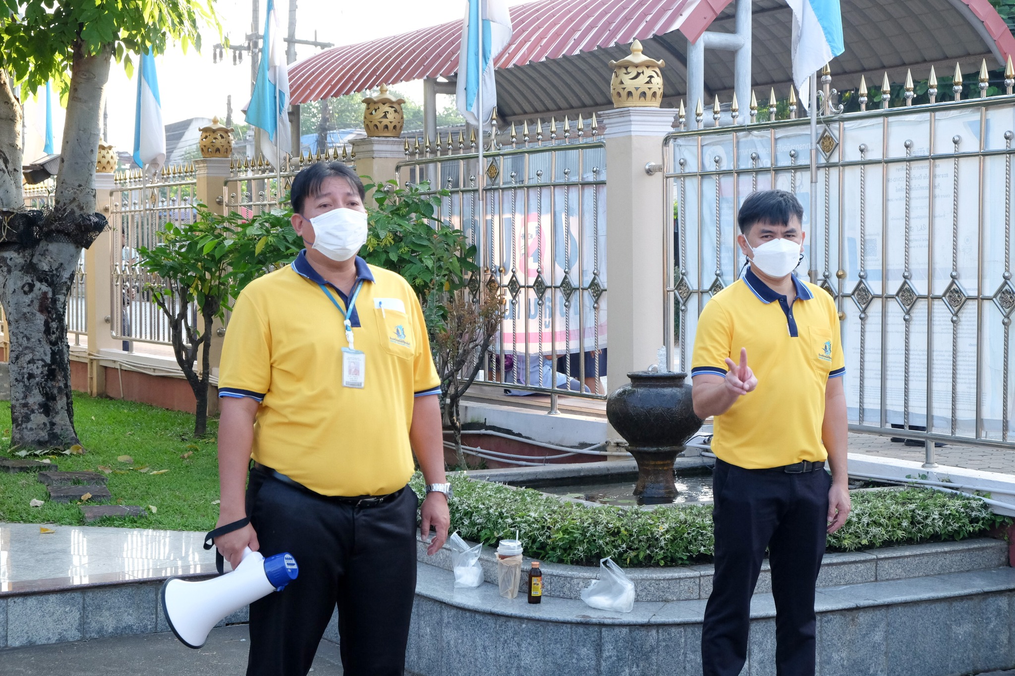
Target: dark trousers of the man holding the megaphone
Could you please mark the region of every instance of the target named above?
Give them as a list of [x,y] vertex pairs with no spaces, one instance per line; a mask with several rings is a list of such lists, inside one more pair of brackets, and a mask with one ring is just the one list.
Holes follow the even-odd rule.
[[299,576],[251,604],[248,676],[304,676],[332,612],[345,676],[402,676],[416,589],[416,494],[339,503],[252,469],[247,513],[261,553],[288,551]]

